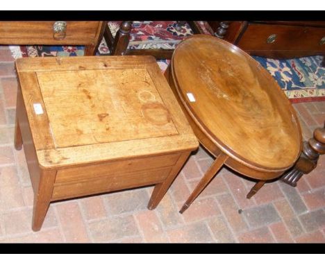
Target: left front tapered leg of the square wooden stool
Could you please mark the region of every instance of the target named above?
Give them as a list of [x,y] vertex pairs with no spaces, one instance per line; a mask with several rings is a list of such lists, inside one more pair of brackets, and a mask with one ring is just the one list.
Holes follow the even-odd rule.
[[33,208],[33,231],[38,231],[49,209],[51,196],[53,192],[53,184],[56,180],[57,171],[44,171],[40,173],[40,182],[38,183],[38,190],[34,194],[34,208]]

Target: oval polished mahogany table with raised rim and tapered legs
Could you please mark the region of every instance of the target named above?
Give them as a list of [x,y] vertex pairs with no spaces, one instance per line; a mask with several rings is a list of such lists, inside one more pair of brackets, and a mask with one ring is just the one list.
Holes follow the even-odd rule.
[[188,37],[175,49],[165,77],[199,142],[216,157],[181,213],[223,165],[258,180],[251,198],[298,159],[301,128],[290,101],[237,46],[209,35]]

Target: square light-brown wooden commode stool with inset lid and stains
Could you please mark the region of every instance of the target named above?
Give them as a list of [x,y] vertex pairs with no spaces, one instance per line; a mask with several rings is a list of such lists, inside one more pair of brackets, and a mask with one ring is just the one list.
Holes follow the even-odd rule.
[[199,146],[151,56],[22,58],[16,69],[34,231],[55,200],[156,185],[154,209]]

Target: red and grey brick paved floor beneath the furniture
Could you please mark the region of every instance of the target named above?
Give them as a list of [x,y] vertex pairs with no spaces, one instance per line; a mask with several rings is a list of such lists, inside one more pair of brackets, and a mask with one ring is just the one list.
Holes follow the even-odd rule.
[[[325,155],[296,188],[255,182],[224,168],[183,214],[178,210],[213,158],[190,157],[156,210],[152,187],[51,203],[40,232],[31,230],[33,190],[13,132],[17,81],[8,46],[0,46],[0,242],[325,242]],[[325,119],[325,102],[297,103],[303,137]]]

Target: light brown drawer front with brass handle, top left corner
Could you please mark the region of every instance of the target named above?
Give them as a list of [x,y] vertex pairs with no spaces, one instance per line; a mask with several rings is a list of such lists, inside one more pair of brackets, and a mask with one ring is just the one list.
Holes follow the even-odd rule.
[[[54,34],[52,22],[0,22],[0,44],[74,44],[94,43],[100,22],[66,24],[65,34]],[[60,37],[61,39],[57,39]]]

